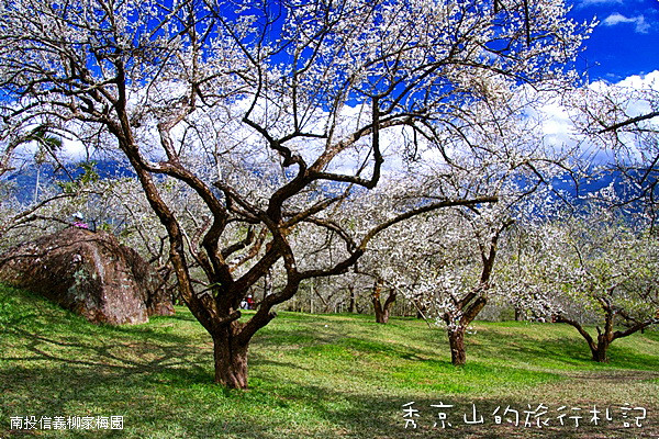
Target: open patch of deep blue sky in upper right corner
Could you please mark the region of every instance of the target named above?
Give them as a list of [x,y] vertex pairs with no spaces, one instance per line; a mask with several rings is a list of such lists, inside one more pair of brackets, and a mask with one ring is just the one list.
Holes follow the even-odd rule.
[[659,0],[573,0],[578,21],[600,21],[578,68],[591,81],[617,82],[659,70]]

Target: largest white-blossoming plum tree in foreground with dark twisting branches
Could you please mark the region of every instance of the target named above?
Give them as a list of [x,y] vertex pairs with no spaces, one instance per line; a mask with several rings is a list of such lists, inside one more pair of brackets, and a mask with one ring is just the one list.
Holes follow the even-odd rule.
[[[566,13],[549,0],[2,1],[2,127],[48,124],[127,160],[167,229],[181,295],[213,339],[215,381],[246,387],[249,340],[302,281],[344,272],[415,214],[493,201],[398,210],[315,268],[300,269],[290,243],[303,227],[349,241],[332,209],[375,188],[383,164],[414,156],[418,139],[468,125],[472,103],[573,79],[561,65],[587,32]],[[204,205],[194,233],[161,176]],[[239,320],[241,301],[272,269],[282,286]]]

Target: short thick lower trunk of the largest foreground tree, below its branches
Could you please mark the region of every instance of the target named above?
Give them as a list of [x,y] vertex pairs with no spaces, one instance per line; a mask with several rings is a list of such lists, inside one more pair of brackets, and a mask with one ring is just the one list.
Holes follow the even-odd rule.
[[215,383],[230,389],[247,389],[247,345],[236,341],[232,326],[213,335]]

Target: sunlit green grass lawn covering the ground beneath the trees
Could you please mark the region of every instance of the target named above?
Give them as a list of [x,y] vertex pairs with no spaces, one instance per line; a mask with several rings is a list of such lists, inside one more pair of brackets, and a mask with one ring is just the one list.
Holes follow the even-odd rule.
[[[0,438],[659,437],[658,331],[616,340],[611,362],[597,364],[568,326],[474,327],[467,367],[454,368],[444,331],[416,319],[281,313],[252,344],[250,389],[227,391],[212,383],[211,339],[185,308],[94,326],[0,286]],[[404,428],[411,402],[416,429]],[[439,404],[453,405],[449,428],[433,426]],[[539,404],[549,425],[523,427],[523,412]],[[624,427],[640,414],[623,419],[625,404],[647,409],[641,428]],[[467,426],[473,406],[483,424]],[[591,425],[593,406],[613,420]],[[496,424],[496,407],[516,409],[522,425]],[[124,428],[11,430],[19,416],[123,416]],[[570,416],[582,416],[578,428]]]

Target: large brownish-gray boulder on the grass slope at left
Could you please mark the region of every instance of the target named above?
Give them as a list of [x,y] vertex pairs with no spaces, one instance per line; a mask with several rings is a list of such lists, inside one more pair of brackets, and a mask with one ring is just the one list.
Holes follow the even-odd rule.
[[0,282],[41,293],[92,323],[174,314],[158,273],[105,232],[69,227],[12,247],[0,255]]

